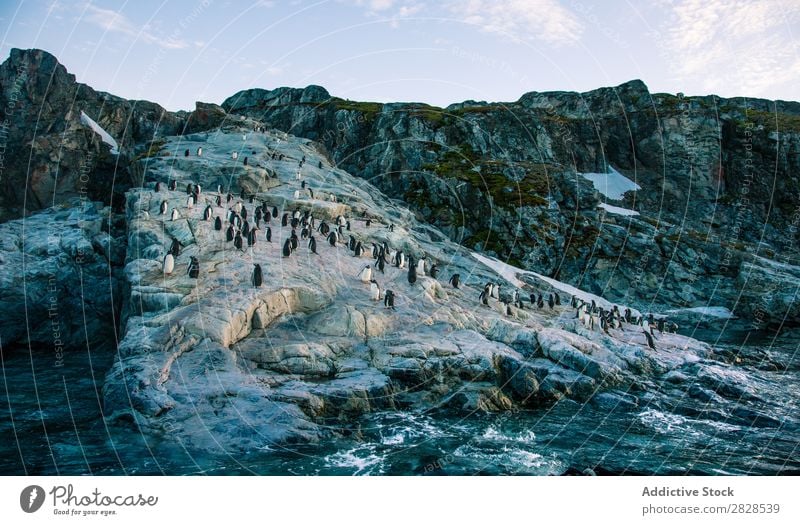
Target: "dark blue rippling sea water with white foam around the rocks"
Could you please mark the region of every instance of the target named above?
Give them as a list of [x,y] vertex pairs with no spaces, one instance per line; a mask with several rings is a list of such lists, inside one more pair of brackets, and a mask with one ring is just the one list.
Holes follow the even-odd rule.
[[[721,344],[718,334],[695,336]],[[747,337],[754,352],[768,340],[764,334]],[[0,474],[800,474],[797,350],[793,339],[770,343],[788,369],[748,369],[777,425],[742,423],[680,403],[646,403],[648,395],[639,392],[638,406],[606,398],[469,416],[376,413],[349,425],[348,434],[358,438],[220,455],[146,441],[134,428],[107,425],[102,384],[113,351],[70,353],[63,367],[55,367],[46,353],[31,357],[17,349],[2,356]],[[670,399],[667,390],[662,393]]]

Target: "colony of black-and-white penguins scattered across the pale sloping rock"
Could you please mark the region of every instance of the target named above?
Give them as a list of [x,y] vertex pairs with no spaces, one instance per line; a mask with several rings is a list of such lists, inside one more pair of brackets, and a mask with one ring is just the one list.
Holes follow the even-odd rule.
[[[265,131],[259,128],[260,131]],[[246,135],[243,140],[247,140]],[[253,151],[255,155],[256,152]],[[186,157],[190,156],[189,150],[184,152]],[[197,157],[203,155],[203,148],[197,148]],[[238,160],[238,152],[230,153],[230,158],[233,161]],[[285,155],[278,152],[268,152],[267,161],[283,161]],[[303,165],[306,158],[299,161],[298,169],[296,172],[295,180],[293,181],[298,188],[294,189],[292,195],[294,200],[301,200],[310,197],[314,200],[328,200],[330,202],[337,202],[337,197],[333,193],[325,195],[322,192],[314,192],[308,182],[302,178]],[[255,161],[256,163],[258,161]],[[244,158],[244,165],[248,165],[249,157]],[[318,163],[318,167],[322,168],[322,162]],[[298,184],[299,183],[299,184]],[[167,183],[168,191],[177,190],[177,181],[172,179]],[[161,182],[154,184],[156,193],[163,193],[164,188]],[[317,239],[315,234],[319,234],[320,238],[327,240],[331,248],[345,247],[354,258],[369,258],[372,260],[369,264],[364,264],[355,279],[369,287],[368,296],[371,301],[376,303],[383,303],[383,307],[388,310],[394,310],[397,295],[394,290],[383,290],[378,281],[378,278],[384,276],[389,268],[394,268],[394,271],[402,271],[407,275],[408,286],[413,287],[418,282],[420,277],[429,277],[438,280],[439,266],[435,261],[429,261],[425,254],[405,253],[401,249],[394,249],[389,246],[385,241],[376,243],[369,242],[366,238],[359,235],[356,236],[353,230],[353,222],[350,218],[338,216],[332,224],[328,224],[325,220],[317,223],[316,218],[311,211],[301,211],[300,208],[294,210],[284,210],[281,212],[277,206],[271,208],[266,202],[262,201],[256,204],[256,196],[249,194],[245,188],[240,188],[238,199],[234,194],[224,191],[221,184],[217,185],[216,195],[202,194],[205,202],[202,209],[202,220],[210,224],[209,228],[214,231],[220,232],[221,239],[224,239],[225,244],[232,243],[233,248],[237,252],[247,253],[252,256],[252,248],[257,244],[259,237],[264,239],[267,243],[272,243],[273,239],[273,224],[274,227],[281,230],[280,237],[284,239],[280,253],[282,257],[291,257],[295,254],[300,247],[300,240],[302,239],[308,254],[319,256]],[[177,221],[183,217],[189,217],[193,213],[195,205],[201,203],[201,187],[198,184],[189,183],[186,186],[186,206],[185,210],[178,210],[173,208],[170,212],[170,221]],[[210,199],[210,200],[209,200]],[[224,200],[224,204],[223,204]],[[254,207],[248,209],[248,204],[255,204]],[[167,200],[160,200],[159,214],[164,216],[168,211]],[[224,211],[221,213],[220,209]],[[250,211],[252,209],[252,212]],[[280,216],[280,219],[278,217]],[[364,229],[370,228],[375,218],[367,217],[366,210],[361,215],[361,224]],[[252,222],[251,222],[252,221]],[[273,223],[273,221],[275,221]],[[377,221],[380,224],[380,220]],[[278,225],[279,223],[279,225]],[[388,232],[394,232],[394,224],[385,225]],[[298,235],[297,231],[300,231]],[[223,231],[224,230],[224,231]],[[287,235],[287,230],[289,231]],[[259,233],[262,232],[262,233]],[[248,250],[245,249],[245,243]],[[162,260],[162,273],[164,277],[172,276],[178,259],[181,255],[182,246],[177,239],[172,239],[170,247]],[[324,264],[324,262],[322,263]],[[200,261],[196,256],[190,256],[187,264],[186,274],[191,279],[199,279],[201,275]],[[265,281],[269,279],[269,270],[261,263],[253,262],[253,270],[250,276],[250,285],[253,287],[261,287]],[[461,275],[453,273],[447,280],[448,284],[453,289],[461,289],[462,280]],[[501,305],[500,310],[507,316],[514,315],[514,309],[525,310],[530,309],[544,309],[554,310],[561,306],[561,297],[557,292],[547,293],[546,297],[542,293],[532,292],[528,295],[528,306],[526,307],[519,289],[513,290],[509,294],[501,293],[501,285],[496,282],[487,282],[483,289],[480,291],[477,303],[482,307],[489,307],[490,302],[495,302]],[[604,309],[598,307],[594,300],[584,301],[576,296],[572,296],[570,306],[575,311],[575,319],[578,320],[585,328],[589,330],[602,331],[610,335],[611,330],[621,329],[624,325],[639,326],[645,336],[647,346],[655,350],[655,341],[658,339],[656,330],[659,334],[675,333],[678,330],[678,325],[674,322],[668,321],[664,317],[658,319],[651,313],[647,317],[634,316],[629,308],[625,308],[624,312],[620,312],[619,307],[614,305],[611,309]]]

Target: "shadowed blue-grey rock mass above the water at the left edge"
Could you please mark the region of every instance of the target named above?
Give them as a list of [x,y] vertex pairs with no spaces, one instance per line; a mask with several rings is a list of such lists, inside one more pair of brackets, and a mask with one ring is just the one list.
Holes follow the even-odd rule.
[[99,203],[76,200],[0,224],[5,349],[52,350],[58,363],[64,352],[113,344],[125,238],[113,236],[111,217]]

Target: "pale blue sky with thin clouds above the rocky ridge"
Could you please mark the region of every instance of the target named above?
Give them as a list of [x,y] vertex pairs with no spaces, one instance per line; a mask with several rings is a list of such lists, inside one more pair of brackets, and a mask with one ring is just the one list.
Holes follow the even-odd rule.
[[800,0],[3,0],[0,35],[3,60],[44,49],[170,110],[253,87],[446,106],[636,78],[800,100]]

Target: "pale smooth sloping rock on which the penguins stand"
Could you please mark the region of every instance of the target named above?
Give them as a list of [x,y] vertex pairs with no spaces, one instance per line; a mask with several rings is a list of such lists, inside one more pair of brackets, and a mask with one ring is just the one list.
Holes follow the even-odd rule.
[[[229,453],[316,442],[376,411],[441,407],[469,414],[561,399],[607,402],[613,395],[605,392],[646,392],[669,374],[707,377],[717,392],[736,390],[735,372],[707,344],[663,333],[653,352],[638,326],[589,330],[574,319],[563,292],[562,305],[552,309],[527,300],[522,309],[508,310],[496,299],[481,305],[477,296],[489,281],[508,290],[523,286],[526,297],[530,289],[557,288],[475,257],[366,181],[331,166],[313,143],[253,133],[257,125],[169,137],[161,155],[140,161],[147,164],[145,183],[128,191],[126,203],[124,337],[104,388],[110,420]],[[175,162],[172,152],[201,146],[202,157]],[[246,166],[241,156],[231,157],[239,150],[248,153]],[[224,173],[236,176],[221,179]],[[170,191],[173,180],[177,188]],[[203,189],[190,208],[186,187],[195,184]],[[270,219],[256,223],[263,205]],[[229,210],[240,206],[248,226],[260,228],[255,245],[241,249],[224,231]],[[349,229],[343,227],[336,246],[312,230],[316,254],[302,240],[285,256],[293,228],[281,226],[281,217],[306,211],[317,226],[342,216]],[[222,230],[214,227],[216,217],[225,219]],[[369,247],[364,256],[348,248],[351,235]],[[165,275],[161,261],[175,240],[181,251]],[[437,278],[422,272],[409,284],[405,268],[373,267],[381,293],[395,296],[395,307],[386,308],[357,277],[374,264],[373,243],[425,258],[428,269],[436,264]],[[187,275],[193,257],[196,279]],[[256,263],[264,276],[258,287]],[[457,289],[446,284],[454,273],[462,277]]]

